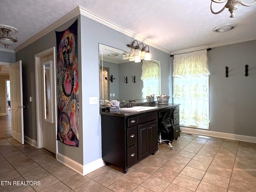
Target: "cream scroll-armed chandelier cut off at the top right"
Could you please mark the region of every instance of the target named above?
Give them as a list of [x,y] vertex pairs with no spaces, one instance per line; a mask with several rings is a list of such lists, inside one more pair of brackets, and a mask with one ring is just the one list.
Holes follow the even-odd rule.
[[252,6],[254,4],[256,4],[256,0],[254,0],[254,2],[252,3],[245,3],[243,2],[242,0],[241,1],[238,1],[238,0],[211,0],[212,2],[215,2],[215,3],[224,3],[226,2],[226,5],[218,12],[214,12],[212,10],[212,2],[211,2],[211,12],[213,14],[219,14],[221,13],[225,8],[228,8],[228,11],[230,12],[230,17],[233,18],[236,16],[235,12],[237,10],[237,7],[239,5],[243,5],[243,6]]

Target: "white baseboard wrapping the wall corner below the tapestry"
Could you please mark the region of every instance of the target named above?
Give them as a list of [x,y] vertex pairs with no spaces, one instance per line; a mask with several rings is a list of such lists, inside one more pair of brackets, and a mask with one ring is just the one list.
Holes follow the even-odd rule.
[[90,162],[86,165],[82,165],[60,153],[57,153],[56,159],[83,176],[104,166],[102,158]]

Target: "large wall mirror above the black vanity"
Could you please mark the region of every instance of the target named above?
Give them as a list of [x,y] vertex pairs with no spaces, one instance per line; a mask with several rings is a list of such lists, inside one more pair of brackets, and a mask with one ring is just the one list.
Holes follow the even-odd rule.
[[140,100],[160,95],[160,62],[124,60],[123,50],[99,44],[100,100]]

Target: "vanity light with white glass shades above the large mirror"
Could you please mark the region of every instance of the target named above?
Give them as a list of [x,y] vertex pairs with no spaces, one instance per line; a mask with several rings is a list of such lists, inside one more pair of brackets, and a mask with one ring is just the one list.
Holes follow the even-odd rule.
[[[134,45],[136,43],[136,46]],[[129,61],[134,61],[136,63],[141,62],[141,60],[150,61],[151,55],[149,52],[149,46],[143,43],[139,43],[138,41],[134,40],[132,44],[127,44],[130,47],[130,52],[124,52],[123,59]],[[140,48],[142,46],[142,48]],[[147,51],[146,51],[147,49]]]

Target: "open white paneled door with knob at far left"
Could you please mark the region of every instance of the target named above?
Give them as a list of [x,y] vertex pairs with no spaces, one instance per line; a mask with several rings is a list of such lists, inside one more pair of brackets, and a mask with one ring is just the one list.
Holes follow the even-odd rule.
[[24,144],[22,64],[10,64],[11,124],[12,138]]

